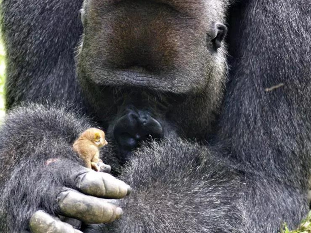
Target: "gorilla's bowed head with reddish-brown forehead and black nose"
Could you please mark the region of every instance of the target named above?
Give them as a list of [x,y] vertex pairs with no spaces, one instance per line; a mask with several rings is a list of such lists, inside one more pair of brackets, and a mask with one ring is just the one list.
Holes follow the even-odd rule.
[[208,131],[226,74],[224,11],[212,0],[85,0],[78,78],[122,150],[168,124]]

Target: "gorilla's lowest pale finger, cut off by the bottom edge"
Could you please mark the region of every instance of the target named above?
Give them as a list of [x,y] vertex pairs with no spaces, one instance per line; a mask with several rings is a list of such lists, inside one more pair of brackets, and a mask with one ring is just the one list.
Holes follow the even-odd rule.
[[30,218],[30,231],[32,233],[82,233],[68,223],[60,221],[46,212],[39,210]]

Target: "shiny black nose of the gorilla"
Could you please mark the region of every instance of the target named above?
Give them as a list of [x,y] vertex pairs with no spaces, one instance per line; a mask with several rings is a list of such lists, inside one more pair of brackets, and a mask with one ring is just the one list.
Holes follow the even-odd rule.
[[161,123],[147,110],[131,108],[118,119],[114,125],[113,134],[120,151],[131,151],[138,146],[140,141],[148,137],[162,137],[163,128]]

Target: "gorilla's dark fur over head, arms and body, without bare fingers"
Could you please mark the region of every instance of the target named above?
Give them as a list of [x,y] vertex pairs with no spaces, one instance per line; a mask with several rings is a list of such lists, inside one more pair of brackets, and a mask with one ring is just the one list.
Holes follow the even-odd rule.
[[[120,201],[120,220],[83,232],[296,226],[308,211],[311,168],[311,2],[91,2],[79,85],[82,1],[2,1],[10,113],[0,133],[0,231],[28,231],[38,209],[56,213],[57,193],[72,187],[68,169],[82,164],[72,142],[90,126],[108,131],[103,159],[133,192]],[[225,15],[230,72],[220,109],[225,48],[211,49],[215,35],[204,33]],[[132,115],[149,127],[116,130]],[[120,166],[131,151],[124,145],[138,145],[132,133],[146,139],[148,130],[162,139],[140,141]],[[55,157],[63,161],[44,166]]]

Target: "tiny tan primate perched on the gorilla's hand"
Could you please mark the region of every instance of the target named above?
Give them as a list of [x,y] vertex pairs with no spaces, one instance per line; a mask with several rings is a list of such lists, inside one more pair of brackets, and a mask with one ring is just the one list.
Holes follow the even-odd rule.
[[83,159],[87,168],[95,171],[109,172],[109,165],[99,165],[102,161],[99,158],[99,148],[107,145],[104,131],[97,128],[85,130],[81,136],[73,143],[73,150]]

